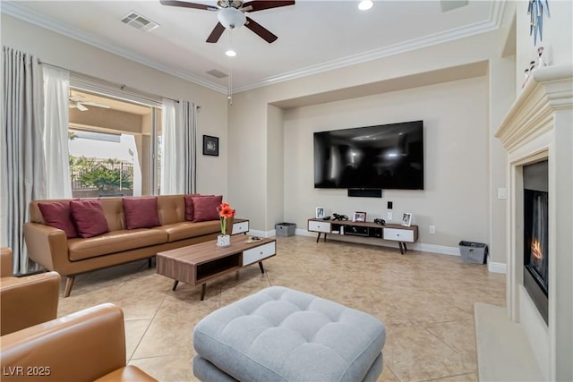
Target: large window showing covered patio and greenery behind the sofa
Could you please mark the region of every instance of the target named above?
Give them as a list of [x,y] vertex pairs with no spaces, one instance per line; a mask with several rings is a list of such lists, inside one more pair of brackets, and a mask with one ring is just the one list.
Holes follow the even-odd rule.
[[73,197],[158,194],[160,113],[157,105],[71,86]]

